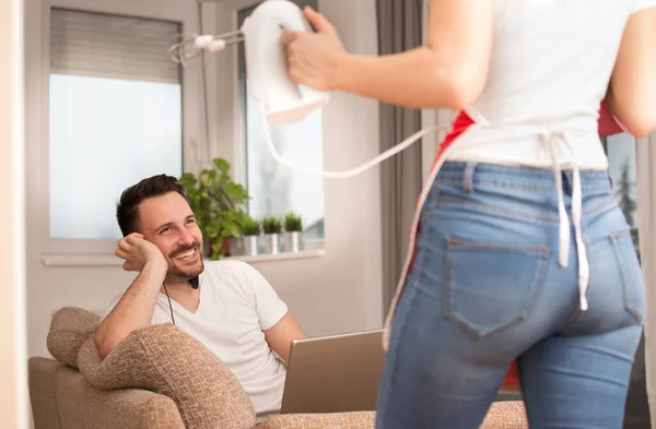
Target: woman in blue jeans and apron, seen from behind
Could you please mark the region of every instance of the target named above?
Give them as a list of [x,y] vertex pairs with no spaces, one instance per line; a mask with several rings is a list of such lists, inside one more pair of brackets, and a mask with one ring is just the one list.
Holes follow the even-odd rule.
[[[473,429],[517,360],[531,428],[621,428],[645,315],[597,119],[656,128],[656,0],[432,0],[426,46],[385,57],[286,33],[291,75],[460,111],[393,306],[378,428]],[[413,228],[414,229],[414,228]]]

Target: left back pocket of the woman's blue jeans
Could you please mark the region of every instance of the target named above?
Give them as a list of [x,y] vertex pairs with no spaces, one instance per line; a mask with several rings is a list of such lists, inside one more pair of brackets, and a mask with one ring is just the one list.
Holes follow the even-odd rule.
[[547,247],[446,240],[444,311],[475,338],[524,320],[544,282]]

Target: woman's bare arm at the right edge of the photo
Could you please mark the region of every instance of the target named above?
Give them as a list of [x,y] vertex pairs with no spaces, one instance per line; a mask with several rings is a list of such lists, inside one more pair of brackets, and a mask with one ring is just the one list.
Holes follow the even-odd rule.
[[656,129],[656,8],[626,24],[606,103],[635,136]]

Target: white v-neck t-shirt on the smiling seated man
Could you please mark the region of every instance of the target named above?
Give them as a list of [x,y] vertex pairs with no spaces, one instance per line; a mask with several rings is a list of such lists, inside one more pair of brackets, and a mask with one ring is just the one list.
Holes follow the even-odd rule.
[[[258,421],[279,414],[286,370],[262,331],[282,319],[286,305],[265,277],[244,262],[207,262],[199,285],[200,303],[195,313],[171,300],[175,324],[233,371],[250,397]],[[114,299],[107,313],[119,299]],[[162,293],[152,323],[172,323],[168,299]]]

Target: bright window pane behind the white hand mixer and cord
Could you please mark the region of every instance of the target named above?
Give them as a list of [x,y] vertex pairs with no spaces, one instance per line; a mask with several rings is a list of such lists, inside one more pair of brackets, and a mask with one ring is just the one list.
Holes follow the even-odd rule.
[[[294,1],[317,9],[317,1]],[[238,25],[255,7],[238,13]],[[248,211],[255,218],[295,212],[303,218],[306,242],[324,239],[324,179],[278,164],[265,143],[257,99],[248,94],[244,48],[239,48],[242,123],[242,180],[250,194]],[[319,168],[323,166],[321,112],[289,126],[271,126],[273,144],[282,157]]]

